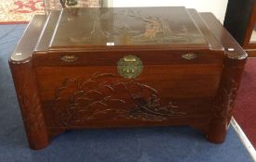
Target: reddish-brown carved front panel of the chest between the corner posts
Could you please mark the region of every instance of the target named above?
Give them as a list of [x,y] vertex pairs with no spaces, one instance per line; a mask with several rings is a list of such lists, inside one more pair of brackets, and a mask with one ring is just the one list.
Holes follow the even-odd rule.
[[38,67],[36,75],[48,125],[72,128],[208,118],[221,71],[219,65],[146,65],[127,79],[117,66]]

